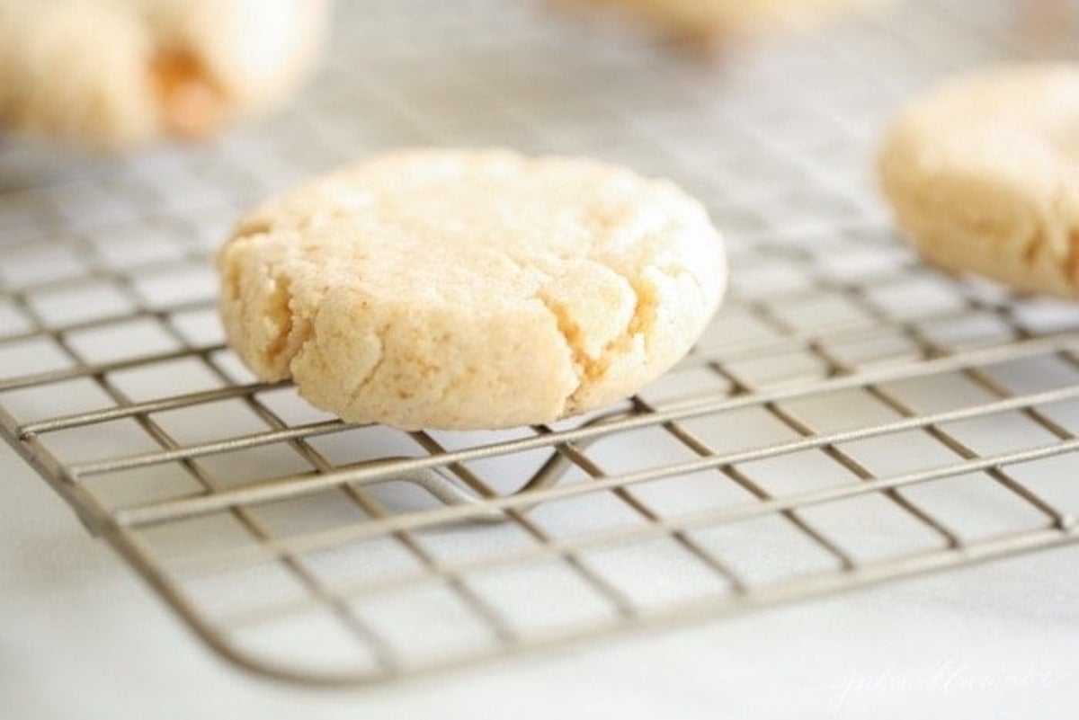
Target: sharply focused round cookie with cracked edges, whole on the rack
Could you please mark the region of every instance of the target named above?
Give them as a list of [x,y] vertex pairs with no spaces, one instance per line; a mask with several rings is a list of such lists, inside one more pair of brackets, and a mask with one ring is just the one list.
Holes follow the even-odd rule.
[[312,404],[404,429],[556,420],[680,360],[723,295],[705,208],[587,160],[416,150],[244,218],[218,254],[230,344]]

